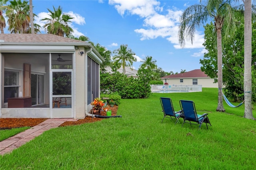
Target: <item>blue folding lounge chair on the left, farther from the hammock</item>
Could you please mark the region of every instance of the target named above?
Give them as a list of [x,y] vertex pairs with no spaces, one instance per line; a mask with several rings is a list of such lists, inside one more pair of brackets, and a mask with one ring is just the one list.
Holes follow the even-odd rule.
[[[160,98],[160,102],[162,105],[162,111],[164,112],[164,117],[170,118],[170,119],[177,119],[175,122],[178,122],[179,118],[182,116],[181,110],[180,111],[174,111],[172,100],[170,98]],[[163,122],[164,118],[162,119]],[[162,123],[161,122],[161,123]]]

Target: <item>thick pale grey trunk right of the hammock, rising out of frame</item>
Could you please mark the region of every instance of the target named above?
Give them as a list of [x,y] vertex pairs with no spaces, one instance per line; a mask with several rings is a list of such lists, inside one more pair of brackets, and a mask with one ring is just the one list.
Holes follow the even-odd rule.
[[252,0],[244,1],[244,117],[252,115]]

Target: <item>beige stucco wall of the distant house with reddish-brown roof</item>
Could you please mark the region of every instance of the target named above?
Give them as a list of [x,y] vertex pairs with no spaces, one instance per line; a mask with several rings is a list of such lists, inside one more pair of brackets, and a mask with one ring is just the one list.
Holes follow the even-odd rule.
[[[180,82],[180,79],[183,79],[183,82]],[[193,85],[193,79],[197,79],[197,84],[203,88],[218,88],[218,83],[214,83],[213,78],[170,78],[164,79],[163,82],[170,85]]]

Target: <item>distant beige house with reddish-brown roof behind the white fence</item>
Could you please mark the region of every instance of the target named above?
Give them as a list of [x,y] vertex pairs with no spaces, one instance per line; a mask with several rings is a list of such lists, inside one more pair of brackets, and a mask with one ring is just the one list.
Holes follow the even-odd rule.
[[218,83],[214,83],[214,79],[210,78],[207,74],[200,69],[171,74],[161,78],[164,83],[170,85],[202,85],[202,87],[218,88]]

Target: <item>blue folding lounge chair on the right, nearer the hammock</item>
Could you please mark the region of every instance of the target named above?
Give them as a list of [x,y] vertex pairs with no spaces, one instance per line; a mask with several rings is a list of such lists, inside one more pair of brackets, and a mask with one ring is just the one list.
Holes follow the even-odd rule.
[[[199,129],[203,123],[206,124],[206,127],[208,129],[208,125],[212,126],[207,115],[208,113],[204,113],[203,115],[198,115],[196,113],[196,107],[193,101],[189,100],[180,100],[180,108],[182,110],[182,115],[183,115],[183,123],[190,123],[190,125],[199,125]],[[192,123],[193,122],[193,123]]]

